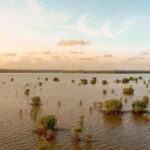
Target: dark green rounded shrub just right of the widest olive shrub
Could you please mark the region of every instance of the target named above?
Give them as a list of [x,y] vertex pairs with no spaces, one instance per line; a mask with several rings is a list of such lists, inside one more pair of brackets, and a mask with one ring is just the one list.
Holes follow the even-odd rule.
[[145,112],[145,108],[147,107],[147,104],[145,104],[142,100],[136,100],[132,102],[132,112],[135,114],[141,114]]

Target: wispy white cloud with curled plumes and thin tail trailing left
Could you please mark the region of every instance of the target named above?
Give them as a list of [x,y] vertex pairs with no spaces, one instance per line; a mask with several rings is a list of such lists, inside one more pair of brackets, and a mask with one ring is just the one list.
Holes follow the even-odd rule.
[[[68,29],[73,32],[76,30],[81,34],[94,38],[118,39],[136,24],[135,18],[130,18],[123,20],[117,25],[115,21],[108,20],[100,28],[92,28],[87,24],[88,19],[89,15],[85,14],[79,17],[75,25],[57,25],[54,28]],[[114,25],[118,27],[117,30],[113,29]]]

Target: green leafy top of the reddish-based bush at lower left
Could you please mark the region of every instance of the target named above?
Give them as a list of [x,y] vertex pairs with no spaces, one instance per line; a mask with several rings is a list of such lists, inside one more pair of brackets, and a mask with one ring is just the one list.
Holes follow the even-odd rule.
[[54,115],[46,115],[38,120],[38,124],[47,130],[55,130],[57,119]]

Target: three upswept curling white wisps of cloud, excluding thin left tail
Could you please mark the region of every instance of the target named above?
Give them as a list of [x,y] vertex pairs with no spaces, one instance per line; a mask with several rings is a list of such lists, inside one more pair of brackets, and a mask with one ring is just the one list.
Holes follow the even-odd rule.
[[132,28],[135,25],[135,19],[127,19],[124,20],[118,27],[116,31],[112,30],[112,21],[107,21],[106,23],[101,26],[100,29],[93,29],[91,27],[88,27],[86,21],[88,19],[88,15],[83,15],[79,18],[77,22],[77,30],[79,30],[81,33],[97,37],[97,38],[111,38],[111,39],[117,39],[119,38],[123,33],[128,31],[130,28]]

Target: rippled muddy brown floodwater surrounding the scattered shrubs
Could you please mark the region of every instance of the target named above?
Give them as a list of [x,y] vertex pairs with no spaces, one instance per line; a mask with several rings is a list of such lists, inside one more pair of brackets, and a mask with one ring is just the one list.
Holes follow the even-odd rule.
[[[124,109],[131,110],[133,100],[141,99],[144,95],[150,96],[150,88],[146,88],[141,80],[137,84],[134,81],[129,84],[114,82],[117,78],[130,76],[142,76],[146,81],[150,79],[150,74],[0,74],[0,150],[34,150],[39,142],[39,136],[33,132],[36,118],[45,114],[56,115],[57,127],[61,129],[57,132],[56,139],[50,142],[52,150],[149,150],[150,123],[144,122],[142,116],[133,116],[131,113],[106,116],[94,108],[92,112],[89,111],[93,102],[120,97],[128,99],[127,103],[123,101]],[[45,81],[46,77],[49,78],[48,81]],[[60,82],[53,82],[53,77],[58,77]],[[89,83],[79,86],[81,78],[92,77],[97,77],[96,85]],[[11,78],[14,78],[13,82],[10,81]],[[76,82],[72,83],[72,79]],[[108,80],[109,84],[102,85],[103,79]],[[43,82],[43,85],[38,86],[39,82]],[[24,95],[27,83],[31,91],[29,96]],[[122,88],[130,85],[135,89],[134,95],[123,95]],[[106,95],[103,95],[103,89],[107,89]],[[114,93],[111,93],[112,89],[115,90]],[[30,105],[34,95],[41,97],[40,107]],[[61,106],[58,106],[58,101]],[[82,105],[79,105],[80,101]],[[85,143],[84,140],[79,143],[72,141],[70,129],[78,125],[80,115],[85,116],[81,139],[90,133],[90,143]]]

